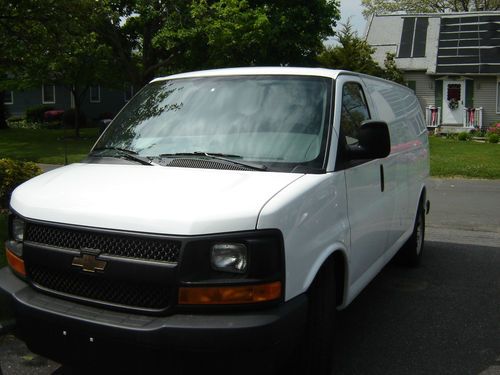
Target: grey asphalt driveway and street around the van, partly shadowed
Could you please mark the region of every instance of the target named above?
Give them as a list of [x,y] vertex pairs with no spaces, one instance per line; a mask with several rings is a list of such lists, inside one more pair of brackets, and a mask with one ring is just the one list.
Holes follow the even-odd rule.
[[[339,314],[336,374],[500,375],[500,181],[429,188],[423,265],[389,264]],[[205,360],[186,359],[180,373],[206,373]],[[0,361],[4,375],[57,367],[11,336],[0,337]]]

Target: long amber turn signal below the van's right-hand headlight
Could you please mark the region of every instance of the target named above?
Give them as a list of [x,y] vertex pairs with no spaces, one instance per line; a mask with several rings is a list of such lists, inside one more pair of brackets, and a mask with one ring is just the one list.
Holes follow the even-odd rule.
[[281,282],[245,286],[185,287],[180,305],[233,305],[273,301],[281,297]]

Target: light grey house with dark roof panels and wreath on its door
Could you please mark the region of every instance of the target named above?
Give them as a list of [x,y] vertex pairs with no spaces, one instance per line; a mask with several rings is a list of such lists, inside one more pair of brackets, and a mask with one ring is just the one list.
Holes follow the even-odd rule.
[[500,122],[500,12],[375,15],[366,40],[381,66],[395,54],[428,128]]

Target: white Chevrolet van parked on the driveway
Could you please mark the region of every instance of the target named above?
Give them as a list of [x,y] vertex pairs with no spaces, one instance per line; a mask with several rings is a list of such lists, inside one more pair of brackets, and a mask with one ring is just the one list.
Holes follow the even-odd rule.
[[14,191],[0,290],[16,334],[63,363],[293,343],[300,373],[327,374],[335,311],[396,254],[420,261],[428,173],[407,87],[309,68],[158,78],[88,158]]

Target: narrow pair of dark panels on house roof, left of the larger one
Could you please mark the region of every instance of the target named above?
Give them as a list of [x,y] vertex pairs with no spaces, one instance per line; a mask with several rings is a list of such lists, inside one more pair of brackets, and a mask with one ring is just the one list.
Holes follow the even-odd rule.
[[425,57],[427,40],[427,17],[407,17],[403,19],[403,31],[398,57]]

